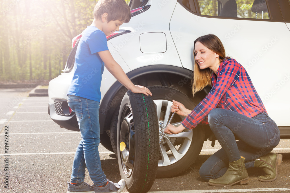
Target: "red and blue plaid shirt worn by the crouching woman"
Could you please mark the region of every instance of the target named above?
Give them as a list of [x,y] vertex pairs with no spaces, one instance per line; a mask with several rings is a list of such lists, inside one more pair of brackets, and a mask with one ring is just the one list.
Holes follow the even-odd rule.
[[247,117],[267,113],[247,71],[235,59],[220,63],[217,76],[213,73],[212,89],[182,122],[192,129],[197,124],[208,124],[209,111],[215,108],[235,111]]

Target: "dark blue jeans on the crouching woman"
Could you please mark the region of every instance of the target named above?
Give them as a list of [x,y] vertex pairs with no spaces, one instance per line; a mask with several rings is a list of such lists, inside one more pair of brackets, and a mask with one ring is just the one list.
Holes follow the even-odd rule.
[[241,156],[246,168],[254,167],[255,159],[271,152],[280,141],[280,130],[266,113],[249,118],[234,111],[213,109],[208,121],[222,149],[200,167],[200,176],[205,181],[221,177],[229,161],[237,161]]

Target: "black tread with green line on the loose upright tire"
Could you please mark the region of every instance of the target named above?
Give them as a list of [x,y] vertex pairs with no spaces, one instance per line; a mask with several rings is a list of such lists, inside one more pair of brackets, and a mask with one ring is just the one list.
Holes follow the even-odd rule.
[[151,96],[136,94],[131,91],[127,93],[130,97],[132,109],[136,110],[135,116],[139,117],[138,120],[142,120],[139,121],[137,127],[135,126],[135,132],[137,133],[136,145],[138,144],[136,147],[137,160],[139,163],[134,176],[135,182],[128,188],[128,191],[145,193],[153,185],[158,167],[159,135],[157,113]]

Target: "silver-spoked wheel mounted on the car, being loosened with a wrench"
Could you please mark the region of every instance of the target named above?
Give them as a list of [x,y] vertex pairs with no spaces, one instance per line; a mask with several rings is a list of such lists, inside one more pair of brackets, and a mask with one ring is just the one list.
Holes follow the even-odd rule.
[[[193,110],[194,102],[181,91],[165,86],[151,86],[158,123],[166,126],[170,119],[172,100],[184,104],[187,109]],[[186,117],[175,113],[171,124],[179,126]],[[159,128],[161,138],[164,129]],[[165,135],[159,146],[159,161],[156,178],[168,178],[176,176],[188,169],[200,154],[204,142],[204,130],[197,126],[194,129],[185,129],[176,135]]]

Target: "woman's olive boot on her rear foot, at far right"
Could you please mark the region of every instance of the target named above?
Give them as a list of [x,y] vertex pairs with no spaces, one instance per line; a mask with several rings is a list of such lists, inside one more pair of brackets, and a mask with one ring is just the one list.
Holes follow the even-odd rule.
[[277,179],[278,165],[282,163],[282,155],[277,153],[268,153],[255,159],[255,167],[263,168],[266,175],[260,176],[259,180],[263,182],[271,182]]

